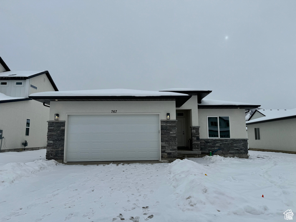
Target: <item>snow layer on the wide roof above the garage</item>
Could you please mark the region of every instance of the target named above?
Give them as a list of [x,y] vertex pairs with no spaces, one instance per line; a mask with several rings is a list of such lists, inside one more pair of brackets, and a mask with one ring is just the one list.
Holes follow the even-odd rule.
[[75,91],[52,91],[30,94],[30,96],[188,96],[175,92],[144,91],[134,89],[94,89]]

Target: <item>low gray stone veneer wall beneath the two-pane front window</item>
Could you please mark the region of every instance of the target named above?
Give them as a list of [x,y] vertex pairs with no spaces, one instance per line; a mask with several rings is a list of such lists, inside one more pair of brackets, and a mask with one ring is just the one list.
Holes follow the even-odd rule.
[[200,139],[202,156],[210,155],[216,149],[215,154],[223,154],[224,157],[247,158],[248,139]]

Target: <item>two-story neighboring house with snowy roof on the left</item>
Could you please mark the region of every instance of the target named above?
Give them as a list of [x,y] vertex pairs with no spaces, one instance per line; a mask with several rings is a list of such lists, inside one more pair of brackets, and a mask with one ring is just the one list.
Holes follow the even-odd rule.
[[[0,57],[1,152],[44,149],[47,141],[49,107],[28,96],[58,91],[48,71],[11,71]],[[1,141],[0,141],[1,143]]]

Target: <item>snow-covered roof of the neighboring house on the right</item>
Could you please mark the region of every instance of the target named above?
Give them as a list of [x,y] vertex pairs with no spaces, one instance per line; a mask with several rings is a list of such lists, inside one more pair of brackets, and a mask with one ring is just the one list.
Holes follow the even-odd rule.
[[246,123],[257,123],[261,121],[267,121],[267,120],[274,120],[274,119],[280,119],[280,118],[285,118],[285,117],[291,117],[295,116],[296,117],[296,108],[292,110],[258,110],[256,112],[261,112],[263,117],[256,118],[254,120],[249,120]]

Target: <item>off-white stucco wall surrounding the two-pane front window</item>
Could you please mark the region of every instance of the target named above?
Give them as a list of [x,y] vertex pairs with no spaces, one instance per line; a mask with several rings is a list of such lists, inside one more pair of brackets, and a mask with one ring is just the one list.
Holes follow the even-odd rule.
[[246,138],[246,122],[244,109],[200,109],[198,110],[198,122],[200,126],[200,138],[207,136],[207,116],[229,116],[231,139]]

